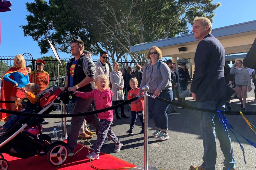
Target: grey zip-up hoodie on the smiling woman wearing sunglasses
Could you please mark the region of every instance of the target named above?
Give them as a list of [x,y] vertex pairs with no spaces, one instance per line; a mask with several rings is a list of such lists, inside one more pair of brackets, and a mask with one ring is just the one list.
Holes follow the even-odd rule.
[[140,93],[143,92],[142,88],[144,85],[149,87],[149,93],[154,93],[157,89],[162,91],[172,88],[170,68],[167,66],[167,64],[162,62],[160,69],[158,69],[159,60],[162,61],[161,59],[158,59],[154,65],[151,65],[152,61],[150,61],[148,66],[143,69],[139,90]]

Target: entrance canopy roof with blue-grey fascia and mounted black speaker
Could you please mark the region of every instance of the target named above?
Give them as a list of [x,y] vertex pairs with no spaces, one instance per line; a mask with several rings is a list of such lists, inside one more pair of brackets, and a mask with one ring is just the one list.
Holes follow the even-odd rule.
[[[224,46],[226,54],[248,52],[256,38],[256,20],[213,29],[211,32]],[[147,53],[152,46],[162,50],[164,57],[194,58],[198,40],[194,34],[182,35],[131,46],[131,52]],[[186,47],[186,51],[182,51]],[[179,51],[180,48],[180,51]]]

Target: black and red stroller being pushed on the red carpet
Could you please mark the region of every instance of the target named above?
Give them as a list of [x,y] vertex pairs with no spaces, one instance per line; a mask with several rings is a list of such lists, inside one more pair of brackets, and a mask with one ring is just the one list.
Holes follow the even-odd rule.
[[[56,86],[46,90],[48,93],[41,92],[37,95],[40,103],[31,113],[49,114],[54,103],[60,100],[69,100],[70,93],[62,93]],[[51,137],[42,134],[43,127],[40,124],[42,121],[43,118],[25,116],[19,119],[3,136],[0,136],[0,170],[9,168],[9,163],[1,153],[7,153],[17,158],[47,154],[47,159],[53,166],[60,166],[66,161],[68,156],[66,143],[62,141],[51,143]]]

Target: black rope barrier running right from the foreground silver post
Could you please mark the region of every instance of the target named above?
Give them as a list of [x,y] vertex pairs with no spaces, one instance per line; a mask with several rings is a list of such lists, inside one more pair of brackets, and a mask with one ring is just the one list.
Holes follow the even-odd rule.
[[[153,97],[153,98],[155,98],[157,100],[160,100],[160,101],[163,101],[165,103],[170,103],[170,104],[175,105],[175,106],[185,107],[186,109],[197,110],[197,111],[204,111],[204,112],[209,112],[209,113],[216,113],[216,110],[202,109],[202,108],[188,106],[188,105],[184,105],[184,104],[178,104],[178,103],[174,103],[174,102],[171,102],[171,101],[168,101],[166,99],[159,98],[159,97],[156,97],[156,96],[153,96],[153,95],[151,95],[150,97]],[[221,111],[221,112],[222,112],[222,114],[241,115],[239,113],[239,111]],[[246,111],[243,114],[244,115],[255,115],[256,112],[255,111]]]

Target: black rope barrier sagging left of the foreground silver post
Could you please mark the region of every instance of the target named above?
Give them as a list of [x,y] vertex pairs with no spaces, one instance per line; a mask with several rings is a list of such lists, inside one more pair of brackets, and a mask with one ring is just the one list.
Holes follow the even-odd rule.
[[141,96],[132,98],[131,100],[127,100],[125,102],[119,103],[117,105],[105,108],[105,109],[100,109],[100,110],[96,110],[96,111],[89,111],[89,112],[83,112],[83,113],[75,113],[75,114],[37,114],[37,113],[26,113],[26,112],[21,112],[21,111],[13,111],[13,110],[7,110],[7,109],[0,109],[0,112],[3,113],[8,113],[8,114],[15,114],[15,115],[21,115],[21,116],[28,116],[28,117],[40,117],[40,118],[63,118],[63,117],[77,117],[77,116],[87,116],[87,115],[91,115],[91,114],[97,114],[97,113],[101,113],[104,111],[108,111],[108,110],[112,110],[115,108],[118,108],[122,105],[126,105],[132,101],[135,101],[137,99],[139,99]]

